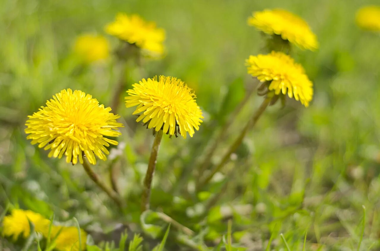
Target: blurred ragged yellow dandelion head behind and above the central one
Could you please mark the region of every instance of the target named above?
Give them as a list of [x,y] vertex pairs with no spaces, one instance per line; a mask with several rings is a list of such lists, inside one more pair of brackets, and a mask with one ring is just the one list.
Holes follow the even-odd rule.
[[136,14],[117,14],[116,20],[108,24],[105,30],[112,36],[135,44],[147,55],[161,56],[164,53],[165,31],[157,28],[154,22],[146,22]]

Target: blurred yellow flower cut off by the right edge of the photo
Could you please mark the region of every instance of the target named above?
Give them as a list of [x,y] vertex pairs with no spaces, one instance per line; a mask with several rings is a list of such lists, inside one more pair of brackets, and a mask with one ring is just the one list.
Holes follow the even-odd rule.
[[380,31],[380,6],[364,6],[356,12],[356,24],[370,31]]

